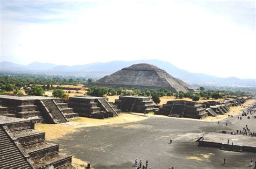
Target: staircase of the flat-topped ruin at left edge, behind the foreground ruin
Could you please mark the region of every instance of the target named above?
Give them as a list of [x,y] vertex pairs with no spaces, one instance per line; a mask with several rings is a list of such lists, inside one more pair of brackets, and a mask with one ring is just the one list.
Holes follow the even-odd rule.
[[68,119],[65,117],[63,112],[58,107],[57,103],[54,100],[42,100],[43,107],[46,112],[49,114],[49,117],[52,118],[52,121],[57,123],[68,122]]

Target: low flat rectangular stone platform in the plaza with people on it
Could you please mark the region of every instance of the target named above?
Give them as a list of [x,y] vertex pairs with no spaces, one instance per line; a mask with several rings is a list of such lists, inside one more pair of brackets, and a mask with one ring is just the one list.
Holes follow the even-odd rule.
[[[227,144],[228,139],[230,141],[229,144]],[[256,138],[210,132],[205,135],[204,140],[198,140],[198,146],[215,147],[226,151],[247,151],[256,153]]]

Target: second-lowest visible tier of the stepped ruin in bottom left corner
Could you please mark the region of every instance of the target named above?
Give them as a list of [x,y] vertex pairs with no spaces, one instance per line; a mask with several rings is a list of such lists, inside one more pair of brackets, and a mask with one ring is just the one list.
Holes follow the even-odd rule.
[[59,145],[43,142],[24,146],[24,150],[26,153],[30,154],[32,159],[36,159],[57,154]]

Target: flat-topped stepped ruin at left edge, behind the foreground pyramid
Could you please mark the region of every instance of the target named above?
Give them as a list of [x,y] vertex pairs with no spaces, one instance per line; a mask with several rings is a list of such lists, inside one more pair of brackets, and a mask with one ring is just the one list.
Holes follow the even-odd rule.
[[0,95],[0,115],[30,119],[33,123],[65,123],[78,114],[61,98]]

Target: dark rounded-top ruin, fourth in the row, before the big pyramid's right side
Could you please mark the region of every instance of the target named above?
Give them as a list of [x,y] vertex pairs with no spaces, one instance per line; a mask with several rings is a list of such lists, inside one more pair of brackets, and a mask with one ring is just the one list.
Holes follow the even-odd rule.
[[155,114],[198,119],[208,116],[205,105],[185,100],[168,101],[166,104],[163,104],[163,107],[160,107]]

